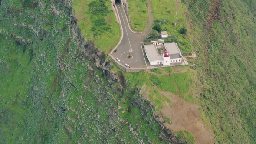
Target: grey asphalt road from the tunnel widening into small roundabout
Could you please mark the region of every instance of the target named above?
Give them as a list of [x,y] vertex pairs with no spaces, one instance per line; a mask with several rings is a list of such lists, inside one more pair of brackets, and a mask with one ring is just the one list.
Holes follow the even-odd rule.
[[[120,16],[122,28],[123,28],[123,39],[121,43],[116,48],[116,52],[112,52],[112,56],[120,59],[121,65],[128,64],[130,67],[133,68],[145,68],[145,60],[143,57],[143,52],[141,49],[141,43],[144,41],[147,33],[133,33],[128,27],[128,23],[125,17],[125,12],[122,8],[121,2],[116,0],[115,5],[118,9],[118,14]],[[147,30],[148,32],[148,30]],[[131,46],[131,49],[130,49]],[[129,53],[130,51],[130,53]],[[127,59],[126,56],[132,56],[132,59]]]

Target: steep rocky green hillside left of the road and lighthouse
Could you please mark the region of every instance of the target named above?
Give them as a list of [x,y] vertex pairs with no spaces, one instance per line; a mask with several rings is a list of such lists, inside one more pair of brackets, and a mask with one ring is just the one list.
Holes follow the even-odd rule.
[[71,1],[1,2],[1,144],[177,142],[137,83],[110,72],[105,54],[83,39]]

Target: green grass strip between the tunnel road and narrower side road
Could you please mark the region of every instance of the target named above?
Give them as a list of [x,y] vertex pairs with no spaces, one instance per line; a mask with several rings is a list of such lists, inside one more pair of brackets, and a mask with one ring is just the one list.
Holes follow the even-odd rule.
[[127,1],[131,28],[135,31],[143,31],[148,26],[148,4],[147,0]]

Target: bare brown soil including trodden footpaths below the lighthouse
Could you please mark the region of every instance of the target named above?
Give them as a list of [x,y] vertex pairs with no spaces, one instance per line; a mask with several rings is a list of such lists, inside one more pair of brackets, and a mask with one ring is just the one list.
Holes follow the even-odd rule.
[[[191,70],[195,72],[195,70],[190,69],[188,67],[180,70],[179,72],[171,72],[167,73],[162,70],[162,74],[155,74],[154,72],[148,71],[154,75],[166,75],[166,74],[173,74],[173,73],[183,73],[187,72],[187,70]],[[171,79],[171,78],[170,78]],[[196,79],[193,79],[194,82],[199,82]],[[175,82],[174,82],[175,83]],[[153,85],[153,83],[152,83]],[[175,83],[176,85],[176,83]],[[164,107],[157,112],[160,116],[160,120],[164,123],[166,128],[169,128],[171,131],[189,131],[195,138],[194,144],[214,144],[215,137],[210,126],[206,126],[201,118],[202,111],[198,110],[200,108],[197,104],[192,104],[190,102],[185,101],[184,98],[180,98],[178,95],[171,94],[170,92],[161,91],[158,87],[156,87],[161,95],[166,96],[171,100],[171,105],[167,101],[163,102]],[[143,88],[144,95],[147,97],[149,95],[148,88]],[[195,87],[195,85],[190,85],[190,91],[194,99],[197,97],[196,92],[200,89],[200,86]],[[171,122],[167,122],[167,119],[170,118]],[[184,136],[186,134],[184,133]]]

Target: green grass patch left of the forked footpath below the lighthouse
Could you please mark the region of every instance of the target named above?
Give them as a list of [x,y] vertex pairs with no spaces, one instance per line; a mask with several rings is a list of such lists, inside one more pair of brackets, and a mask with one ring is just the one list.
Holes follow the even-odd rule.
[[168,75],[161,75],[160,77],[156,75],[150,75],[149,79],[162,91],[177,94],[175,84],[171,81]]

